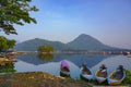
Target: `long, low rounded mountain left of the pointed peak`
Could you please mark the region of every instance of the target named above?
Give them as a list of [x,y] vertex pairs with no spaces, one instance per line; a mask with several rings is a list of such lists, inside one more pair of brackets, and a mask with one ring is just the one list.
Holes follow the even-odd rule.
[[31,39],[31,40],[26,40],[24,42],[17,44],[15,46],[15,49],[17,51],[36,51],[38,47],[43,45],[52,46],[55,50],[68,49],[68,46],[60,41],[49,41],[49,40],[39,39],[39,38],[35,38],[35,39]]

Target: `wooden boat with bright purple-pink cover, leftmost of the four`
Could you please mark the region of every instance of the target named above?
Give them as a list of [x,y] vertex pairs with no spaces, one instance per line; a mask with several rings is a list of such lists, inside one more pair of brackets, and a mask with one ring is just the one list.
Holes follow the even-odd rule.
[[70,76],[70,66],[66,60],[61,61],[60,76],[63,76],[63,77]]

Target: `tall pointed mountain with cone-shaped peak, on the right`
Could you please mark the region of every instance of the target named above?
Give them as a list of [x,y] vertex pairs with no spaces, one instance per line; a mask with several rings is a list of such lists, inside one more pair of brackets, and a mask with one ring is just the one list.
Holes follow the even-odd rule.
[[69,47],[79,50],[112,50],[118,49],[102,44],[99,40],[91,37],[90,35],[82,34],[73,41],[67,44]]

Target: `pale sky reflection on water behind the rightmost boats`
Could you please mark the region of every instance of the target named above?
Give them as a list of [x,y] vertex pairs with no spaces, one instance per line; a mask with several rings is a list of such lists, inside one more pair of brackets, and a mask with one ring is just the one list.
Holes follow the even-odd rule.
[[115,55],[109,59],[105,59],[92,67],[93,71],[96,71],[102,64],[106,64],[108,73],[111,73],[122,64],[126,70],[131,70],[131,60],[124,55]]

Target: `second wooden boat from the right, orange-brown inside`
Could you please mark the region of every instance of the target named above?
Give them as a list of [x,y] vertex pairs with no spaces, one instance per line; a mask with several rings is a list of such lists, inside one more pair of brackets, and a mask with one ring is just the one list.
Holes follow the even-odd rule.
[[107,71],[106,70],[97,70],[95,73],[96,79],[99,84],[106,82],[107,79]]

